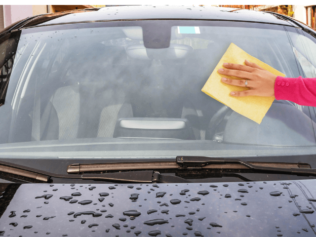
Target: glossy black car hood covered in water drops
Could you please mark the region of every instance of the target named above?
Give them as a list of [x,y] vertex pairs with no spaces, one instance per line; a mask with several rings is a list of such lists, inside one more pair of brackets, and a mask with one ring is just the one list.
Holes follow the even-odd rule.
[[0,186],[0,236],[315,235],[315,180]]

